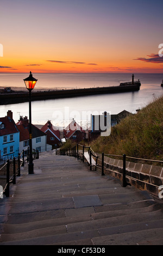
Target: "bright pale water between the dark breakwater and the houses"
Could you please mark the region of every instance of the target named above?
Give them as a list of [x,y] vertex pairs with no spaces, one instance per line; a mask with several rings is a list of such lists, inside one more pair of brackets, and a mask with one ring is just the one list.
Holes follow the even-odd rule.
[[[126,109],[131,113],[136,113],[137,108],[142,108],[153,100],[154,96],[162,94],[162,88],[142,88],[139,92],[117,93],[105,95],[82,96],[68,99],[54,99],[45,101],[32,102],[32,122],[33,124],[45,124],[46,121],[52,120],[54,125],[62,125],[62,118],[73,118],[86,115],[90,121],[90,113],[99,113],[108,111],[111,114],[117,114]],[[0,116],[4,117],[7,111],[13,112],[15,122],[20,115],[28,117],[28,102],[0,106]],[[75,112],[74,112],[75,111]],[[88,113],[88,114],[86,114]],[[74,117],[76,118],[76,117]],[[69,120],[67,120],[69,122]],[[84,120],[86,122],[86,120]]]

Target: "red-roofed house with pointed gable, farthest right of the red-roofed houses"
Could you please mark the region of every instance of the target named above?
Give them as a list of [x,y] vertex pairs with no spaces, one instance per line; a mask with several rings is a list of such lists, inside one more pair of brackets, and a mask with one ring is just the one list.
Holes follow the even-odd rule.
[[76,123],[76,120],[72,120],[71,123],[64,129],[65,139],[72,139],[75,142],[80,142],[85,139],[85,130]]

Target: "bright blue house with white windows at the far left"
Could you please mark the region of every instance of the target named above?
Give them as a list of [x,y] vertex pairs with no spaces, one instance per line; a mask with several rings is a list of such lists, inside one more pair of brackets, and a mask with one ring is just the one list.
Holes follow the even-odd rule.
[[0,159],[17,157],[19,153],[20,132],[9,110],[7,116],[0,118]]

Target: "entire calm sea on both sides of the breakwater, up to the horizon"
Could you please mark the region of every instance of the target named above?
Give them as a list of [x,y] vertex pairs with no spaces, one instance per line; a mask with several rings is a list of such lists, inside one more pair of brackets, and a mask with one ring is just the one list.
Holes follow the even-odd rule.
[[[35,73],[38,81],[34,90],[55,90],[73,88],[93,88],[118,86],[121,82],[131,81],[133,74],[45,74]],[[23,79],[26,73],[0,73],[0,87],[11,87],[13,90],[26,90]],[[78,96],[66,99],[32,101],[32,123],[44,125],[51,120],[59,129],[65,128],[73,119],[86,129],[90,127],[91,114],[118,114],[124,109],[136,113],[163,93],[161,82],[163,74],[134,74],[134,81],[140,80],[141,87],[137,92]],[[29,117],[28,102],[0,105],[0,117],[11,110],[15,123],[20,116]]]

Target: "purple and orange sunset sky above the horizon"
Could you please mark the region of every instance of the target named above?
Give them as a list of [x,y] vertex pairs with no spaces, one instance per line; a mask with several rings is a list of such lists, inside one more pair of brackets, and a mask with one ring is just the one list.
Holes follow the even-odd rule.
[[162,0],[0,0],[0,73],[162,73],[162,9]]

